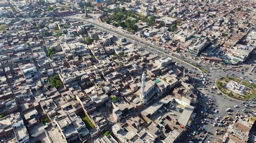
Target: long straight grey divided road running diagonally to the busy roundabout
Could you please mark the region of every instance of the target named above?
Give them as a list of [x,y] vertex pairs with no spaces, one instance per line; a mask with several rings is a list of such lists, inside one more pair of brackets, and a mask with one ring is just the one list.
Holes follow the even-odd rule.
[[[138,37],[137,35],[132,35],[132,34],[129,34],[129,33],[126,33],[125,30],[120,30],[112,25],[109,25],[109,24],[105,24],[105,23],[100,23],[98,22],[98,20],[96,20],[96,18],[83,18],[82,16],[83,15],[76,15],[76,16],[68,16],[66,18],[72,18],[72,19],[79,19],[79,20],[83,20],[87,23],[91,23],[101,29],[103,29],[104,31],[108,31],[108,32],[111,32],[113,34],[117,34],[117,35],[120,35],[121,37],[124,37],[130,41],[133,41],[139,45],[144,45],[146,48],[149,48],[153,51],[157,51],[161,54],[164,54],[164,55],[167,55],[169,56],[170,58],[172,58],[174,61],[176,61],[177,63],[180,64],[180,66],[184,66],[186,67],[187,69],[192,69],[192,68],[197,68],[196,66],[193,66],[191,65],[191,62],[193,63],[193,61],[185,61],[185,60],[181,60],[178,57],[178,55],[174,52],[172,52],[170,54],[170,51],[165,51],[164,48],[161,48],[159,46],[156,46],[156,45],[153,45],[150,41],[146,41],[140,37]],[[176,55],[176,56],[174,56]],[[196,65],[196,62],[194,62],[193,64]],[[198,69],[198,68],[197,68]],[[200,69],[199,69],[200,70]],[[200,70],[201,71],[201,70]],[[201,72],[198,72],[198,73],[201,73]]]

